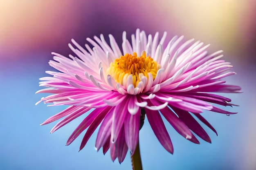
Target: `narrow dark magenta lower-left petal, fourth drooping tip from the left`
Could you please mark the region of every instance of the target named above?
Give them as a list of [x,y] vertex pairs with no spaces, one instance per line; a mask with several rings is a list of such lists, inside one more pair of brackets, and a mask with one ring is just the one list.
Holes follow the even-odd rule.
[[88,142],[89,138],[92,136],[92,133],[96,130],[96,128],[99,126],[101,121],[104,119],[108,111],[110,110],[111,107],[106,107],[97,117],[94,119],[92,124],[89,126],[88,130],[86,131],[83,140],[80,145],[80,150],[83,149],[83,147],[86,145]]

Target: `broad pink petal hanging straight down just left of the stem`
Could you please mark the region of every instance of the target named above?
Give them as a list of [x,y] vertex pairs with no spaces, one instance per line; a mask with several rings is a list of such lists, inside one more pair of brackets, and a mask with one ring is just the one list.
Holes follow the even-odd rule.
[[139,109],[135,115],[126,114],[126,118],[124,120],[126,144],[132,154],[139,141],[140,112],[141,109]]

